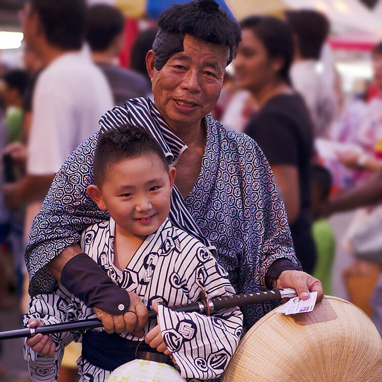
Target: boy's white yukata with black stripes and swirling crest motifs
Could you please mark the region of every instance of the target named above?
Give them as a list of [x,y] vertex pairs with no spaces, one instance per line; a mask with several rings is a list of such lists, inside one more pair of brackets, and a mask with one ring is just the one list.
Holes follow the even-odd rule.
[[[137,293],[148,308],[153,301],[163,304],[158,307],[159,326],[184,378],[205,380],[221,375],[240,339],[240,310],[228,309],[207,317],[198,313],[176,313],[167,306],[195,302],[201,290],[205,290],[209,298],[233,294],[227,273],[199,240],[175,228],[168,219],[146,238],[121,271],[113,263],[114,234],[115,222],[111,218],[109,222],[92,225],[82,234],[81,248],[117,285]],[[48,324],[95,315],[60,285],[57,293],[40,294],[32,299],[25,323],[31,317]],[[150,320],[144,328],[145,334],[156,324],[156,320]],[[143,339],[132,333],[120,335],[135,341]],[[39,357],[27,345],[24,347],[34,382],[57,379],[64,347],[70,341],[79,341],[80,335],[59,333],[53,338],[56,352],[52,357]],[[102,349],[93,350],[102,355]],[[100,382],[110,374],[82,357],[78,366],[81,381]]]

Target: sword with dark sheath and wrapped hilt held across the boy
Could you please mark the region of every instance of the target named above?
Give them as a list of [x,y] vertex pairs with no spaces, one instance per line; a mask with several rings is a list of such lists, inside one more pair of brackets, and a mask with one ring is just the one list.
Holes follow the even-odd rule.
[[[217,297],[215,299],[207,299],[207,295],[204,291],[200,293],[200,301],[187,305],[179,305],[171,307],[175,312],[197,312],[201,314],[206,314],[209,316],[210,313],[228,309],[233,307],[243,307],[247,305],[261,304],[265,302],[277,302],[282,299],[290,299],[296,297],[298,294],[295,289],[272,289],[265,290],[262,292],[254,292],[247,294],[233,294],[231,296]],[[149,312],[149,319],[156,317],[156,312]],[[20,338],[20,337],[31,337],[35,334],[53,334],[61,333],[64,331],[75,331],[75,330],[88,330],[94,328],[103,327],[102,322],[95,319],[80,320],[80,321],[71,321],[63,322],[60,324],[44,325],[37,326],[34,328],[24,328],[17,330],[8,330],[0,332],[1,339],[11,339],[11,338]]]

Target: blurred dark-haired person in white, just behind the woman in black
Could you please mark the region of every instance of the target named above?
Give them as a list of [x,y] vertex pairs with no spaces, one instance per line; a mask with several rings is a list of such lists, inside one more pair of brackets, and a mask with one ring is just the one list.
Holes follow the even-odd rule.
[[294,59],[290,70],[292,86],[305,101],[314,124],[315,137],[324,137],[334,118],[336,106],[334,90],[317,70],[329,33],[329,21],[313,10],[287,11],[285,17],[294,38]]

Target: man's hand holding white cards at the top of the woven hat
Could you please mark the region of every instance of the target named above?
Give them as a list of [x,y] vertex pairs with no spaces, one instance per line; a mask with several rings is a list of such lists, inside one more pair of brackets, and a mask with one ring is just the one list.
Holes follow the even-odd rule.
[[303,271],[283,271],[277,279],[277,288],[294,288],[301,300],[309,298],[309,292],[317,292],[317,303],[324,297],[321,281]]

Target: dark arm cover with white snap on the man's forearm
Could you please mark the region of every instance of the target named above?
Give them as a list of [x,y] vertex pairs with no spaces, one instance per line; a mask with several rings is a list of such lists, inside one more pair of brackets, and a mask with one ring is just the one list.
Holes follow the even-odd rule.
[[96,307],[114,316],[129,309],[128,292],[114,284],[86,253],[77,254],[65,264],[61,284],[88,307]]

